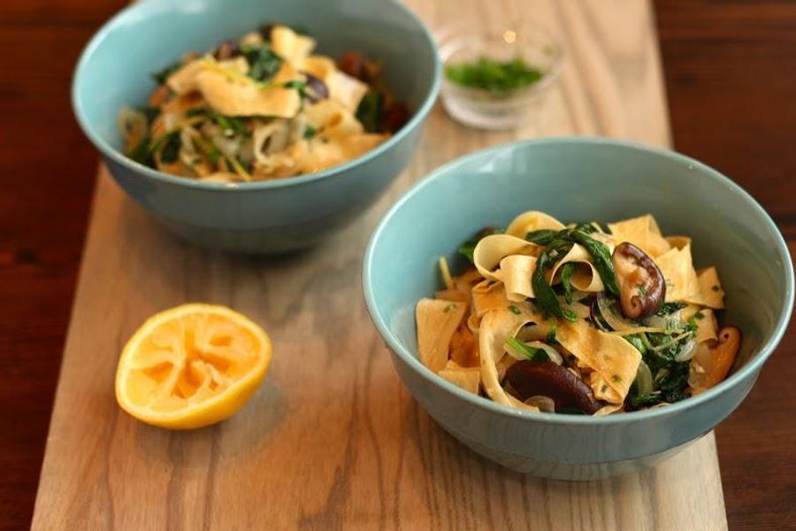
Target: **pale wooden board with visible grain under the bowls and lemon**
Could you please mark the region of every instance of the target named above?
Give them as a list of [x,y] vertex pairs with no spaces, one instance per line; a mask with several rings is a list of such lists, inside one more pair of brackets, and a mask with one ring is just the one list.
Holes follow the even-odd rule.
[[[440,105],[409,169],[322,247],[291,258],[196,250],[165,234],[104,169],[66,342],[34,529],[724,529],[713,434],[644,473],[545,481],[494,466],[417,407],[371,326],[360,264],[371,229],[451,158],[540,135],[670,143],[652,12],[640,0],[410,3],[435,30],[531,17],[567,45],[538,121],[486,133]],[[522,12],[518,12],[518,6]],[[272,335],[271,372],[216,426],[145,426],[113,396],[117,357],[150,314],[228,304]]]

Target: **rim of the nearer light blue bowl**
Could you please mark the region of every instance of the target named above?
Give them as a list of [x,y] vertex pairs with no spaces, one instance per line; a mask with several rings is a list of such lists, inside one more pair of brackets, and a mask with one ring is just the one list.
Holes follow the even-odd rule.
[[[618,415],[605,415],[601,417],[530,412],[527,410],[513,408],[508,405],[498,404],[483,396],[473,395],[472,393],[455,386],[449,381],[446,381],[439,375],[432,373],[420,362],[418,358],[412,355],[412,353],[409,352],[406,347],[404,347],[402,342],[398,340],[389,327],[387,327],[382,319],[379,318],[379,313],[376,310],[377,304],[373,298],[373,291],[371,289],[373,254],[381,234],[384,232],[395,213],[401,210],[403,204],[407,203],[410,198],[421,192],[432,181],[440,179],[442,175],[450,173],[451,171],[454,171],[456,167],[466,164],[476,158],[487,157],[489,155],[499,153],[501,150],[514,148],[517,146],[544,146],[560,143],[584,146],[608,146],[622,150],[633,150],[644,152],[653,155],[654,157],[670,158],[678,163],[692,165],[694,168],[699,169],[700,172],[707,175],[708,178],[718,181],[723,186],[731,189],[741,199],[743,199],[750,208],[762,216],[762,219],[764,219],[765,223],[769,226],[771,233],[775,235],[775,239],[777,241],[777,250],[780,253],[783,267],[785,268],[785,307],[780,309],[779,319],[777,319],[774,331],[769,335],[767,341],[763,342],[762,346],[756,350],[754,356],[749,359],[746,365],[742,366],[735,373],[732,373],[729,378],[716,385],[716,387],[708,389],[697,396],[691,396],[685,400],[681,400],[680,402],[669,404],[666,407],[637,412],[624,412]],[[793,264],[790,253],[787,249],[787,243],[777,228],[777,225],[774,223],[774,220],[769,216],[768,212],[766,212],[762,208],[762,205],[759,204],[754,197],[749,195],[745,189],[741,188],[734,181],[731,181],[731,179],[723,175],[723,173],[718,172],[712,167],[705,165],[696,159],[678,153],[677,151],[651,146],[642,142],[618,140],[599,136],[558,136],[517,142],[507,142],[491,148],[486,148],[484,150],[474,151],[463,157],[455,158],[447,164],[436,168],[432,171],[432,173],[429,173],[425,178],[423,178],[421,181],[418,181],[410,189],[404,192],[403,195],[392,205],[392,207],[390,207],[387,213],[384,214],[384,216],[379,220],[379,225],[373,231],[371,239],[368,242],[367,248],[365,250],[362,281],[365,304],[373,324],[377,327],[379,334],[384,338],[385,342],[387,342],[387,347],[390,350],[393,350],[397,357],[402,358],[402,361],[409,366],[409,369],[417,373],[418,376],[423,377],[426,381],[429,381],[437,387],[445,389],[448,391],[448,393],[457,396],[464,402],[470,403],[478,408],[483,408],[489,412],[494,412],[500,414],[501,416],[515,419],[528,419],[535,422],[555,425],[604,426],[629,424],[646,419],[657,419],[673,416],[677,413],[684,412],[685,410],[700,406],[701,404],[708,403],[722,395],[724,391],[738,385],[741,381],[752,375],[754,372],[760,370],[762,364],[777,348],[777,344],[781,341],[783,335],[785,335],[785,330],[790,322],[793,308]]]

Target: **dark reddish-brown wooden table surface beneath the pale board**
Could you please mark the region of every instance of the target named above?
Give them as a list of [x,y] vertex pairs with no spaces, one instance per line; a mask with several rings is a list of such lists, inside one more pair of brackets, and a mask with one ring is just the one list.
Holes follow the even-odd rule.
[[[96,175],[69,82],[124,0],[0,3],[0,529],[28,527]],[[656,3],[677,150],[738,181],[796,250],[796,3]],[[796,528],[796,346],[717,431],[731,529]],[[695,501],[699,504],[699,501]]]

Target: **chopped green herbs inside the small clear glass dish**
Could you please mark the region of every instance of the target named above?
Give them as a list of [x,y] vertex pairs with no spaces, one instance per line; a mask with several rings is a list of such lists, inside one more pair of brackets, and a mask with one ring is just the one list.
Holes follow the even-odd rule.
[[509,92],[540,81],[543,74],[523,58],[509,61],[478,58],[470,63],[446,66],[445,76],[457,85],[470,89]]

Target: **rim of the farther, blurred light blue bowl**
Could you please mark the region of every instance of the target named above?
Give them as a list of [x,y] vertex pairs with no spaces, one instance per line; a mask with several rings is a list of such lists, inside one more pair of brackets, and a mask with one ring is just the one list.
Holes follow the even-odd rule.
[[264,189],[282,189],[291,186],[300,186],[302,184],[307,184],[313,181],[320,181],[322,179],[326,179],[338,173],[344,173],[349,169],[356,167],[358,165],[364,165],[365,163],[369,162],[372,158],[379,157],[382,153],[385,153],[387,150],[393,148],[395,144],[401,142],[407,135],[409,135],[410,131],[415,130],[417,127],[422,126],[423,121],[428,116],[429,112],[431,112],[432,106],[437,100],[437,97],[440,94],[440,87],[441,87],[441,80],[442,80],[442,63],[440,61],[440,52],[437,46],[437,42],[434,40],[432,36],[431,29],[426,26],[423,19],[417,16],[417,13],[413,12],[409,9],[407,5],[403,2],[398,0],[387,0],[390,4],[394,4],[394,6],[399,9],[400,11],[404,12],[406,15],[409,16],[410,19],[414,20],[422,30],[423,37],[425,38],[425,43],[428,45],[429,49],[431,50],[432,54],[432,61],[434,62],[434,69],[433,69],[433,76],[431,85],[424,96],[422,103],[417,107],[417,110],[412,114],[412,117],[409,121],[401,127],[401,129],[395,133],[394,135],[390,136],[387,139],[387,142],[381,143],[375,149],[370,150],[360,157],[354,158],[345,162],[341,165],[336,165],[331,168],[325,169],[321,172],[316,173],[307,173],[304,175],[296,175],[293,177],[286,177],[284,179],[276,179],[276,180],[268,180],[268,181],[250,181],[250,182],[235,182],[235,183],[227,183],[227,182],[211,182],[211,181],[195,181],[190,180],[185,177],[178,177],[176,175],[171,175],[169,173],[160,172],[156,169],[150,168],[149,166],[142,165],[141,163],[135,162],[131,158],[127,158],[123,153],[119,150],[114,149],[108,142],[105,142],[102,136],[96,133],[94,127],[91,126],[88,118],[86,117],[86,113],[83,110],[82,105],[79,102],[79,89],[81,84],[81,79],[85,75],[85,71],[88,68],[88,61],[94,55],[97,49],[102,46],[104,40],[106,39],[107,35],[111,33],[117,27],[124,25],[127,19],[131,17],[135,17],[136,15],[140,16],[143,13],[150,12],[151,10],[164,10],[169,9],[172,7],[179,7],[182,5],[180,0],[159,0],[158,2],[153,1],[141,1],[135,2],[133,4],[129,4],[126,7],[122,8],[117,12],[115,15],[108,19],[103,25],[96,31],[94,35],[92,35],[91,39],[85,45],[83,50],[80,52],[80,58],[78,59],[77,66],[73,72],[72,78],[72,87],[71,87],[71,100],[72,100],[72,109],[75,115],[75,118],[80,125],[80,129],[82,129],[83,134],[88,137],[88,140],[94,144],[96,150],[99,150],[100,154],[106,158],[111,158],[114,162],[118,163],[119,165],[126,166],[130,170],[133,170],[136,173],[139,173],[140,176],[149,179],[150,181],[158,181],[167,184],[172,184],[176,186],[186,187],[189,189],[199,189],[199,190],[208,190],[208,191],[229,191],[229,192],[245,192],[249,190],[264,190]]

